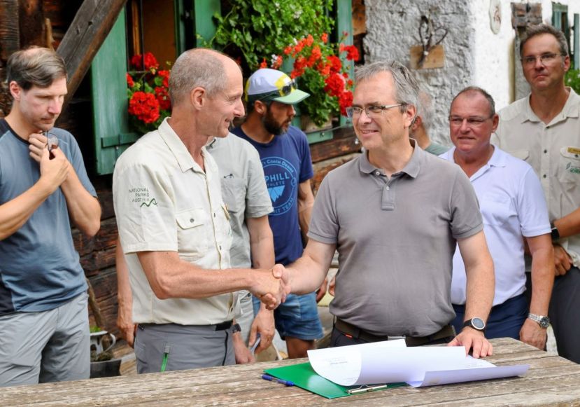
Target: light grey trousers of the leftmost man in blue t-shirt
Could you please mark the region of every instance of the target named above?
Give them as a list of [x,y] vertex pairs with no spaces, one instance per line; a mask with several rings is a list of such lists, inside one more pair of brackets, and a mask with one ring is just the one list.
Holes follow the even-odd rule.
[[88,379],[87,294],[58,308],[0,317],[0,386]]

